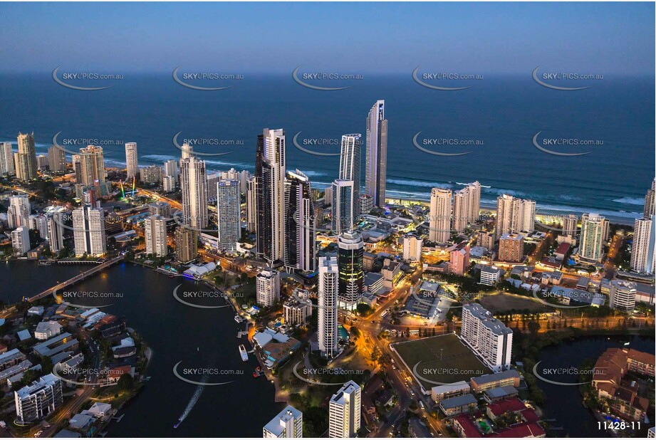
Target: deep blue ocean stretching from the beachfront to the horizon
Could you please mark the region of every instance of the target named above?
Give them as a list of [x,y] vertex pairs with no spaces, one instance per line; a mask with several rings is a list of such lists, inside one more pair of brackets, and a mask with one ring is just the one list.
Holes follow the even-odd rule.
[[[95,82],[93,85],[99,85]],[[105,84],[103,84],[105,85]],[[170,74],[125,75],[113,88],[69,90],[51,73],[5,75],[0,90],[0,140],[16,142],[19,131],[34,131],[38,152],[56,132],[62,138],[98,138],[137,142],[140,165],[179,157],[172,137],[241,140],[237,147],[204,147],[225,152],[208,160],[209,169],[253,169],[256,135],[263,127],[282,127],[288,137],[288,168],[306,172],[315,187],[338,174],[337,157],[318,157],[293,147],[291,138],[338,138],[365,133],[365,118],[377,99],[385,99],[389,120],[387,195],[426,199],[433,186],[459,187],[478,179],[482,202],[502,193],[536,199],[538,211],[597,211],[615,219],[642,212],[654,178],[654,78],[608,78],[593,88],[560,92],[524,76],[485,75],[474,88],[456,92],[429,90],[404,76],[368,77],[348,90],[303,88],[290,75],[249,76],[233,88],[202,92],[183,88]],[[323,84],[325,85],[325,84]],[[331,84],[332,85],[332,84]],[[582,157],[540,152],[532,137],[603,140],[603,146],[570,147],[592,151]],[[472,147],[417,150],[412,137],[480,140]],[[308,147],[338,152],[338,146]],[[104,146],[108,164],[125,163],[123,145]],[[364,154],[363,154],[364,156]],[[363,158],[364,159],[364,158]],[[363,172],[364,178],[364,172]]]

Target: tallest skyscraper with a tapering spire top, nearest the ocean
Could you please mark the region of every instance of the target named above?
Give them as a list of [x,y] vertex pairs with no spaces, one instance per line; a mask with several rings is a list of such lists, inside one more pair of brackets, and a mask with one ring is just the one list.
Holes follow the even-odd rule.
[[366,192],[378,207],[385,206],[387,175],[387,120],[385,100],[378,100],[367,118]]

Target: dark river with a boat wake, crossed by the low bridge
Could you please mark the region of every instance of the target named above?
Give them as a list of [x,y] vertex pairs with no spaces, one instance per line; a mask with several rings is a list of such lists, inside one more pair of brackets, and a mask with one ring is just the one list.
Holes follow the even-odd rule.
[[[20,300],[71,278],[87,266],[37,266],[30,261],[0,264],[0,299]],[[67,290],[86,293],[69,300],[103,305],[101,310],[124,315],[152,349],[145,388],[124,408],[125,417],[113,421],[113,437],[260,437],[262,426],[283,407],[274,403],[274,386],[265,377],[254,378],[258,365],[239,356],[237,324],[230,307],[194,308],[173,296],[197,305],[225,305],[202,283],[169,278],[149,268],[120,263]],[[90,293],[90,294],[89,294]],[[246,344],[247,349],[250,346]],[[178,365],[179,362],[179,365]],[[174,367],[184,382],[174,374]],[[204,369],[202,371],[201,369]],[[225,384],[219,384],[229,382]],[[179,428],[174,424],[187,412]]]

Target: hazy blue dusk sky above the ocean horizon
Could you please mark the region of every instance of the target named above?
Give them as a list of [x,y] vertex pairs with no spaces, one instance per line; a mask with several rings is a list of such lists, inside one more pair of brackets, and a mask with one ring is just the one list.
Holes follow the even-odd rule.
[[653,3],[2,3],[0,71],[654,73]]

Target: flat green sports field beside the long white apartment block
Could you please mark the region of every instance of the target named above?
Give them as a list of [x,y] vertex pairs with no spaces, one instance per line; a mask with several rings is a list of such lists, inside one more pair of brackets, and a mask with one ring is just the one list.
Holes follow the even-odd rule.
[[392,347],[425,390],[439,384],[469,382],[472,377],[491,372],[456,335],[397,342]]

